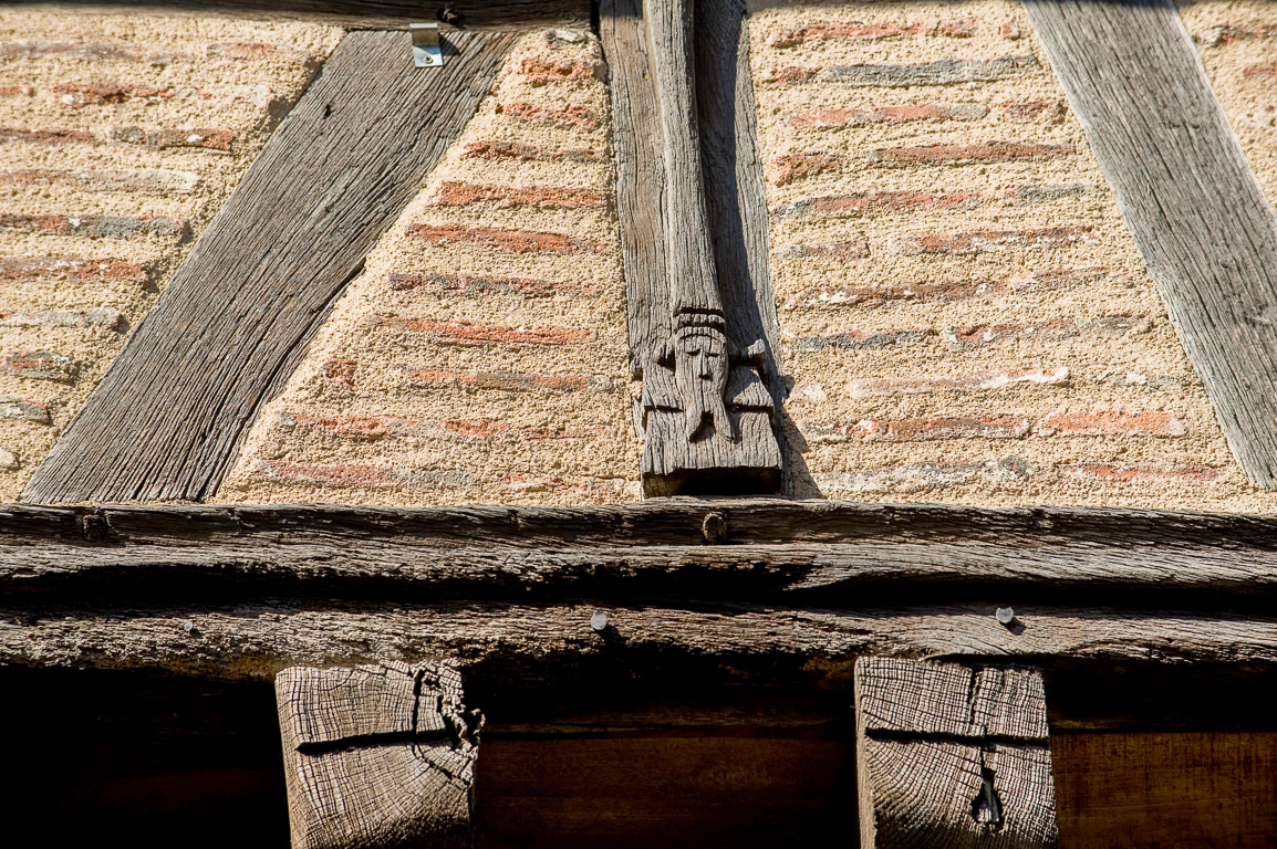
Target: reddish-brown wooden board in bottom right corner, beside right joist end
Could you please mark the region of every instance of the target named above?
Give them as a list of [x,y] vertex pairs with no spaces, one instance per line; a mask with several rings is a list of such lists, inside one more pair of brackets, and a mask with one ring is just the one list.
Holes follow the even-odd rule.
[[1277,843],[1277,733],[1054,734],[1051,753],[1069,849]]

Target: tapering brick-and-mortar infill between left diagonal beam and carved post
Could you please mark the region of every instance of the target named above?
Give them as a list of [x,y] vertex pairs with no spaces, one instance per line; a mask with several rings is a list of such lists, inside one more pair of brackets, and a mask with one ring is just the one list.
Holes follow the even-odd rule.
[[516,45],[220,500],[637,500],[600,60],[580,32]]

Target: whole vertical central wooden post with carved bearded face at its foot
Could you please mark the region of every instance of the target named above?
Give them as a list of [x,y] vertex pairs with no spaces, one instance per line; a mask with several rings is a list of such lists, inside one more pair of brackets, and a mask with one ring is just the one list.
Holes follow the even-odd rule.
[[646,496],[773,493],[783,478],[761,177],[741,173],[757,166],[741,162],[743,8],[700,1],[604,9]]

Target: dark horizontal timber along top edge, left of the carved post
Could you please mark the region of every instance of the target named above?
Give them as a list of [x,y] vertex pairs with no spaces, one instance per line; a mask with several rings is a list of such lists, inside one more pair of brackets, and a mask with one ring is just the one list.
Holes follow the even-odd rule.
[[111,14],[128,10],[146,14],[223,14],[250,18],[313,20],[338,27],[387,29],[412,22],[439,19],[462,27],[533,27],[587,22],[590,4],[585,0],[439,0],[434,4],[412,0],[61,0],[42,4],[0,4],[0,8],[57,9]]

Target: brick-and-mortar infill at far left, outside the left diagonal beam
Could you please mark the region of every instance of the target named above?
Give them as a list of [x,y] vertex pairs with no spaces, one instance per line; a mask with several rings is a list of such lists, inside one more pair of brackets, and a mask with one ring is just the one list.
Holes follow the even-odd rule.
[[0,359],[13,366],[0,366],[0,501],[17,500],[340,37],[0,10]]

